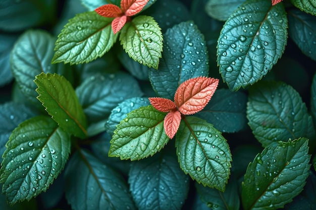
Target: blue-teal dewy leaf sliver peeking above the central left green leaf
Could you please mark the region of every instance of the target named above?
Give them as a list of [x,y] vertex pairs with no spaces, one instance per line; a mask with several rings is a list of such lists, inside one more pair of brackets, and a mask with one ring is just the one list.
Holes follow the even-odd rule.
[[106,123],[106,130],[108,133],[113,133],[116,129],[116,125],[120,124],[120,122],[126,117],[128,113],[142,106],[150,105],[148,98],[140,98],[134,97],[130,99],[126,99],[125,101],[118,104],[115,107]]

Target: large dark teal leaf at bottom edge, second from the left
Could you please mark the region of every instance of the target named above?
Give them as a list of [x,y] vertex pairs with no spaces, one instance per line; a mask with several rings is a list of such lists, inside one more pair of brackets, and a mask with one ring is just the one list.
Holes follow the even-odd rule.
[[66,198],[75,210],[136,209],[122,175],[84,150],[70,159],[65,182]]

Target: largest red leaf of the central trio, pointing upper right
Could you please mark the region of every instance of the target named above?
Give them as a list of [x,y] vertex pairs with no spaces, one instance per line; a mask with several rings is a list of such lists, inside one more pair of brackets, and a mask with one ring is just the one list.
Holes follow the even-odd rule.
[[175,104],[182,114],[201,111],[212,98],[218,79],[198,77],[183,82],[175,94]]

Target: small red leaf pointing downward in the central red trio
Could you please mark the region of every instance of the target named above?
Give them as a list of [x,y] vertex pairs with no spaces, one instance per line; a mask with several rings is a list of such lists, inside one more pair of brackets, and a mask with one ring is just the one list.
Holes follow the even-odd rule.
[[181,121],[181,113],[176,110],[169,112],[164,119],[164,128],[169,138],[173,138],[179,129]]

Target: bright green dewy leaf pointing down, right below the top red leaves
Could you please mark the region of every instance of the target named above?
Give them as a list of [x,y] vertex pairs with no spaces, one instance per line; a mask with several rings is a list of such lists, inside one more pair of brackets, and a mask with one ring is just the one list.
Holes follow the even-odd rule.
[[148,67],[158,68],[163,51],[161,28],[150,16],[137,16],[121,30],[120,41],[128,55]]

